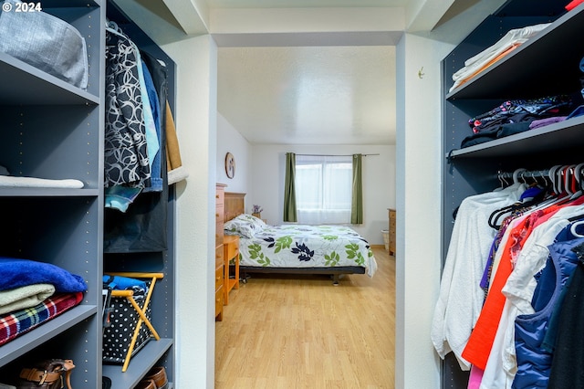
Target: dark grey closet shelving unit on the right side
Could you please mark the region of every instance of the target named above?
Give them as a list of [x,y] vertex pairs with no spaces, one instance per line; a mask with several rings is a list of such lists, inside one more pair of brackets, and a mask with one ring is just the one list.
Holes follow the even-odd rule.
[[[505,100],[533,99],[559,94],[578,95],[582,89],[579,61],[584,57],[584,5],[570,12],[568,2],[510,0],[443,59],[443,260],[454,226],[453,213],[469,195],[492,191],[498,172],[518,168],[543,170],[556,164],[584,162],[584,117],[522,132],[461,149],[472,134],[470,118]],[[551,23],[452,92],[452,76],[464,60],[490,47],[512,28]],[[581,97],[580,97],[581,99]],[[466,388],[462,372],[450,353],[443,363],[443,388]]]

